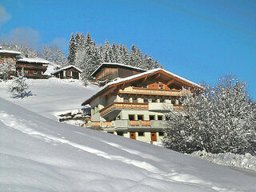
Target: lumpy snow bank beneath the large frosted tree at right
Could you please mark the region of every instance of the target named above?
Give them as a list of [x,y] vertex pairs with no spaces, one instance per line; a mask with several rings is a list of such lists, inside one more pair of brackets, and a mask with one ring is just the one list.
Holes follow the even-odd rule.
[[196,151],[190,154],[222,166],[234,166],[246,170],[256,171],[256,157],[251,154],[210,154],[206,151]]

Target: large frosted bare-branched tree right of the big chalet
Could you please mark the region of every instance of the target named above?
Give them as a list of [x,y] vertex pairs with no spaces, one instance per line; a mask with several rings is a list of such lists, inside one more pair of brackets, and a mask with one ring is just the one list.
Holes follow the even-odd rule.
[[246,82],[228,75],[213,87],[204,86],[198,95],[182,99],[182,113],[170,110],[164,145],[182,153],[255,154],[255,103]]

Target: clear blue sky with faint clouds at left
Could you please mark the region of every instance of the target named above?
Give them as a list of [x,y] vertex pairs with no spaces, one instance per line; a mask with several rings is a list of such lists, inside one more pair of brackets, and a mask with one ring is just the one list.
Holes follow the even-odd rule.
[[33,48],[90,32],[138,46],[167,70],[213,85],[232,72],[256,98],[254,0],[0,0],[0,39]]

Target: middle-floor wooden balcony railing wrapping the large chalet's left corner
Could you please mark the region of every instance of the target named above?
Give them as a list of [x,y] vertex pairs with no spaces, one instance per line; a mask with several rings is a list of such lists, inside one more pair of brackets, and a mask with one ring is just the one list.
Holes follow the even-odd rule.
[[140,102],[113,102],[108,106],[105,106],[102,110],[99,110],[101,116],[109,113],[111,110],[123,110],[123,109],[136,109],[136,110],[148,110],[148,103]]

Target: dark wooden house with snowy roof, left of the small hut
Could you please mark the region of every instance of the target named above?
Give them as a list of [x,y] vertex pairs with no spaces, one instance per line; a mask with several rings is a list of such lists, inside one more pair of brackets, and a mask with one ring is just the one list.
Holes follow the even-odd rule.
[[42,58],[18,58],[16,62],[16,73],[24,69],[26,78],[47,78],[46,72],[50,62]]

